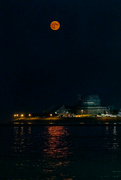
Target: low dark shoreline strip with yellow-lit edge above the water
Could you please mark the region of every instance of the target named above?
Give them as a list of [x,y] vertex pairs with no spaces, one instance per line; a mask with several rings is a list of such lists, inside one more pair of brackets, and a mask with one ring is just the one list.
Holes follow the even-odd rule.
[[2,125],[38,125],[38,126],[116,126],[121,125],[121,117],[81,117],[81,118],[64,118],[64,117],[48,117],[48,118],[16,118]]

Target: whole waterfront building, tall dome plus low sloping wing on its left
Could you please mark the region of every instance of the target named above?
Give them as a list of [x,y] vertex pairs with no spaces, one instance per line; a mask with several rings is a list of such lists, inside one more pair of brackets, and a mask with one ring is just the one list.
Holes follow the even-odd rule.
[[100,115],[108,112],[107,107],[101,106],[98,95],[82,96],[74,106],[55,105],[44,111],[45,116],[78,117],[78,115]]

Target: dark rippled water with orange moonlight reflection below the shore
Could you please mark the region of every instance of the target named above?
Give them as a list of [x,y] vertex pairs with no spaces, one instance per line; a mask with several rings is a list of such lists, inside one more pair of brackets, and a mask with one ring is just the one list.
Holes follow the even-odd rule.
[[121,126],[0,127],[0,179],[121,179]]

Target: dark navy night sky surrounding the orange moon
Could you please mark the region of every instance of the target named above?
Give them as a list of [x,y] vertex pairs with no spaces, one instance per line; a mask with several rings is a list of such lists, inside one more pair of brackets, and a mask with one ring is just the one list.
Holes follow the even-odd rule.
[[2,117],[85,93],[121,107],[120,0],[1,0],[0,42]]

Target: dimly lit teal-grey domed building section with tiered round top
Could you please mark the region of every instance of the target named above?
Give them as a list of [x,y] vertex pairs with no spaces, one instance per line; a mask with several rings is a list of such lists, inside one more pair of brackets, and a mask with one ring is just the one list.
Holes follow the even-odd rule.
[[107,107],[101,106],[101,100],[98,95],[84,95],[78,102],[77,114],[104,114]]

